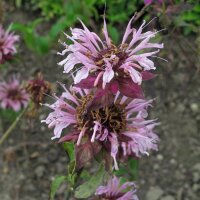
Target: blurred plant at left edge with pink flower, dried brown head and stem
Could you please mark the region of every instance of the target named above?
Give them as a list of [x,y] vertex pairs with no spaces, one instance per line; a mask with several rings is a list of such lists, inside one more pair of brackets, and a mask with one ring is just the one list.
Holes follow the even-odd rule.
[[24,115],[28,118],[36,117],[45,94],[50,93],[50,90],[50,83],[41,73],[23,83],[18,75],[9,77],[8,81],[0,81],[0,117],[12,122],[0,137],[0,145],[9,137]]

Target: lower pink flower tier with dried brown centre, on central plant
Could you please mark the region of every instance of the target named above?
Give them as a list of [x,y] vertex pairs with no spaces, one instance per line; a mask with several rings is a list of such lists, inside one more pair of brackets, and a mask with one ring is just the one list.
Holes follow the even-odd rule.
[[74,141],[77,145],[88,140],[98,142],[113,158],[115,169],[120,156],[141,157],[157,150],[159,139],[153,129],[158,123],[145,119],[152,100],[131,100],[118,92],[112,103],[101,105],[95,104],[90,90],[74,88],[76,92],[70,93],[64,89],[55,103],[47,104],[53,112],[42,121],[54,128],[52,139],[60,138],[63,129],[71,127],[71,133],[63,136],[61,142]]

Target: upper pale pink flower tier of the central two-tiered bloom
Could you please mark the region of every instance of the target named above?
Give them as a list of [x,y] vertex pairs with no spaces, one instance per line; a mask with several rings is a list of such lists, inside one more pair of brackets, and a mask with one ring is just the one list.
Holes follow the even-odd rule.
[[[143,73],[156,69],[150,58],[154,57],[159,50],[149,52],[149,49],[161,49],[163,44],[150,42],[157,32],[142,33],[145,21],[138,30],[132,28],[133,19],[134,17],[129,21],[119,46],[114,45],[109,38],[105,19],[104,40],[101,40],[96,33],[89,31],[82,21],[83,29],[71,28],[72,36],[67,34],[66,36],[72,44],[64,43],[65,50],[59,53],[60,55],[68,54],[63,61],[58,63],[64,66],[64,73],[74,73],[77,66],[74,83],[79,83],[79,87],[84,79],[85,82],[90,82],[91,76],[94,79],[93,86],[105,88],[108,84],[115,85],[122,94],[125,90],[124,84],[132,84],[133,88],[138,87],[137,85],[142,83]],[[149,76],[152,77],[150,72]],[[146,79],[148,79],[147,73]]]

